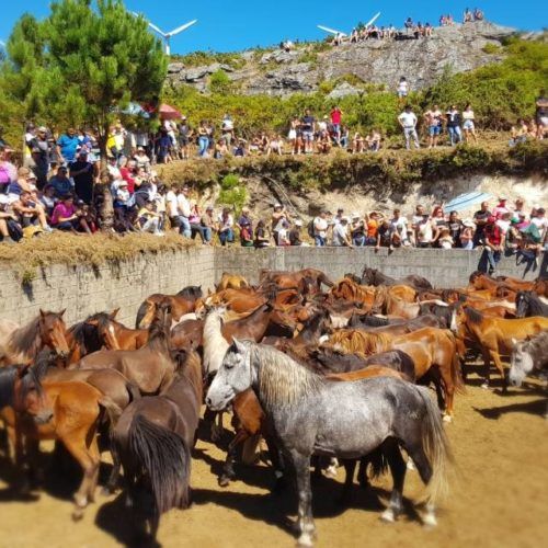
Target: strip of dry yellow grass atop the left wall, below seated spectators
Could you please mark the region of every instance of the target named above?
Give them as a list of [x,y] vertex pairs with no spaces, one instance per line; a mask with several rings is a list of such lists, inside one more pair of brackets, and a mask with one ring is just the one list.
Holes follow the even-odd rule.
[[20,274],[23,283],[30,283],[39,266],[99,266],[106,262],[129,260],[141,253],[179,251],[195,246],[194,240],[186,240],[175,232],[163,237],[149,233],[96,233],[90,237],[54,232],[13,246],[0,243],[0,265],[8,265]]

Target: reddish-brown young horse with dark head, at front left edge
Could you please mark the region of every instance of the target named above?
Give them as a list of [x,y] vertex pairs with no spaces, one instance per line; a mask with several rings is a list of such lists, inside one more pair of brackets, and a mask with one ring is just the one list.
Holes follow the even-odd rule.
[[60,441],[83,470],[75,494],[72,518],[80,520],[94,499],[100,453],[96,431],[105,413],[112,426],[121,409],[87,383],[39,380],[32,367],[0,369],[0,408],[12,406],[8,432],[14,441],[16,463],[32,466],[41,439]]

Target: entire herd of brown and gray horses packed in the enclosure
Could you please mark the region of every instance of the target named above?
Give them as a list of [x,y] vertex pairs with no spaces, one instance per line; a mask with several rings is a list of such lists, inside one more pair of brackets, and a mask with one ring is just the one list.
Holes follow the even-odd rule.
[[[105,489],[122,489],[136,527],[155,538],[160,516],[191,503],[190,473],[203,403],[218,442],[233,415],[219,486],[236,478],[238,449],[253,460],[264,438],[274,489],[296,478],[299,544],[315,537],[313,473],[389,470],[381,517],[402,512],[408,465],[427,488],[421,518],[435,525],[453,461],[444,422],[466,389],[467,362],[494,365],[502,389],[548,368],[548,281],[492,278],[437,289],[420,276],[395,279],[366,267],[334,283],[323,272],[262,271],[259,285],[224,274],[215,292],[150,295],[135,328],[99,312],[67,327],[41,310],[25,326],[0,320],[0,419],[20,489],[39,481],[42,439],[55,439],[82,469],[72,517],[93,501],[101,452],[112,457]],[[503,359],[510,358],[506,375]],[[427,386],[434,387],[436,403]],[[326,469],[327,468],[327,469]]]

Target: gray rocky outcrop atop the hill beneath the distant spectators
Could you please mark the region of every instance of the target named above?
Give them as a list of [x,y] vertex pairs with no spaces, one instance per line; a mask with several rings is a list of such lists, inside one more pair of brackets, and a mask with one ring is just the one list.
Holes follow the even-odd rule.
[[[208,77],[224,70],[238,82],[241,93],[282,96],[313,92],[322,81],[349,76],[356,81],[385,84],[389,89],[404,76],[411,89],[420,89],[433,84],[446,67],[454,72],[464,72],[500,60],[501,54],[496,49],[487,53],[486,46],[500,46],[514,33],[513,28],[484,21],[435,28],[434,35],[427,38],[415,39],[411,34],[402,33],[398,39],[369,39],[324,52],[307,44],[292,52],[269,52],[259,59],[252,52],[246,52],[241,54],[242,66],[238,69],[218,62],[202,67],[172,62],[168,68],[168,79],[175,87],[185,83],[206,91]],[[493,48],[489,50],[493,52]],[[332,93],[340,98],[358,92],[350,88],[335,88]]]

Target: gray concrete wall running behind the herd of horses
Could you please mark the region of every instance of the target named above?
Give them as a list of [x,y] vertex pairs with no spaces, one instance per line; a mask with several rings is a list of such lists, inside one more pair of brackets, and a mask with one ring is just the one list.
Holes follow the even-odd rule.
[[[140,302],[152,293],[173,294],[186,285],[210,288],[222,272],[231,272],[256,282],[261,269],[296,271],[316,267],[333,281],[346,272],[361,274],[364,266],[379,269],[400,277],[419,274],[438,287],[459,287],[468,283],[478,266],[480,252],[463,250],[396,250],[377,253],[373,249],[235,247],[198,248],[176,253],[144,254],[132,261],[92,266],[54,265],[38,273],[30,287],[23,287],[16,273],[0,266],[0,318],[19,323],[28,321],[38,309],[67,309],[66,321],[73,323],[87,316],[119,307],[118,319],[133,326]],[[546,275],[547,258],[535,271],[505,258],[500,273],[532,279]]]

